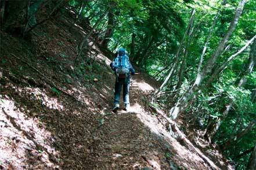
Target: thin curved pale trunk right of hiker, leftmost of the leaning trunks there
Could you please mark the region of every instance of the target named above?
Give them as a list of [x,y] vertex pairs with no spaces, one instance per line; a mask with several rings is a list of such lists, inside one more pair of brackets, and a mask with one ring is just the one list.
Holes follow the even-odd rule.
[[185,34],[183,35],[183,38],[181,40],[181,43],[179,45],[179,48],[176,52],[176,56],[175,56],[175,61],[174,61],[174,64],[172,64],[172,68],[168,74],[168,76],[165,78],[164,82],[161,84],[160,88],[158,88],[155,92],[154,92],[154,95],[157,95],[158,93],[160,93],[161,90],[163,90],[163,87],[167,84],[168,80],[172,77],[173,73],[174,73],[174,68],[176,68],[176,65],[178,64],[178,61],[179,61],[179,54],[181,52],[181,49],[182,49],[182,46],[183,46],[183,43],[185,41],[185,38],[186,36],[188,35],[189,33],[189,29],[192,27],[192,23],[193,23],[193,20],[194,20],[194,15],[196,13],[196,9],[193,9],[192,10],[192,13],[191,13],[191,16],[190,16],[190,20],[189,20],[189,24],[188,24],[188,27],[186,28],[186,32]]

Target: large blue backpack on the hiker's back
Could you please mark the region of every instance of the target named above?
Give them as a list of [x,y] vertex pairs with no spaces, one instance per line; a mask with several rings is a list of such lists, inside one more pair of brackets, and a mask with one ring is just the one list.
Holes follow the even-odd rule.
[[116,65],[116,75],[119,78],[126,78],[130,72],[130,63],[128,52],[125,49],[119,49],[117,51],[117,57],[114,60]]

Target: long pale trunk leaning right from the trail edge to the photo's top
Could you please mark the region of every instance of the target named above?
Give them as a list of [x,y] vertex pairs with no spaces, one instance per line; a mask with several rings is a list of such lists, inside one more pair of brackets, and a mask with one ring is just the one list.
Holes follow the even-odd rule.
[[228,31],[226,32],[225,36],[219,43],[217,49],[214,51],[210,59],[205,64],[203,70],[200,73],[197,73],[197,77],[196,77],[196,80],[194,81],[193,86],[188,91],[186,91],[186,93],[183,94],[183,96],[178,100],[178,102],[176,102],[175,106],[171,108],[169,116],[171,116],[172,119],[176,119],[183,110],[188,108],[188,101],[193,97],[194,93],[197,92],[205,76],[207,75],[208,72],[211,71],[212,67],[215,65],[215,61],[217,60],[219,55],[222,53],[224,47],[226,46],[226,43],[228,43],[228,40],[232,35],[232,32],[235,30],[236,25],[239,21],[239,18],[243,11],[243,7],[245,3],[246,3],[246,0],[240,1],[236,9],[235,16],[232,22],[230,23]]

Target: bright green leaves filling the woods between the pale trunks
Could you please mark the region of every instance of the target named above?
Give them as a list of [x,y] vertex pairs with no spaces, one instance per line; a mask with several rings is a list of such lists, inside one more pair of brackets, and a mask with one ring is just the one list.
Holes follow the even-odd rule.
[[[33,2],[29,10],[31,16],[30,25],[35,24],[37,21],[33,16],[38,11],[42,1]],[[212,56],[228,30],[239,1],[227,1],[224,6],[221,5],[221,1],[210,0],[71,0],[68,3],[73,6],[74,12],[77,14],[81,12],[81,16],[86,18],[91,26],[95,25],[99,17],[108,10],[106,16],[103,17],[98,27],[95,28],[93,40],[98,40],[101,43],[107,38],[110,40],[107,44],[110,51],[115,52],[119,47],[125,47],[131,52],[132,35],[135,35],[135,54],[130,56],[131,60],[149,73],[149,75],[157,75],[156,79],[160,83],[167,77],[175,61],[176,52],[185,34],[186,27],[188,27],[192,9],[196,9],[196,16],[192,25],[193,29],[190,32],[190,37],[185,37],[174,76],[171,77],[167,86],[163,88],[166,94],[157,99],[161,105],[170,108],[196,79],[201,52],[215,16],[219,12],[217,23],[204,54],[203,66]],[[81,11],[82,5],[85,8]],[[240,50],[247,40],[255,35],[255,6],[256,1],[248,1],[246,6],[244,6],[243,14],[228,42],[229,48],[226,48],[219,56],[213,71],[218,66],[221,66],[228,57]],[[110,17],[111,14],[113,15],[112,17]],[[113,34],[106,37],[109,28],[112,29]],[[49,37],[48,40],[51,40],[51,38]],[[64,46],[62,41],[59,41],[58,44]],[[217,79],[213,80],[207,88],[203,89],[203,92],[194,101],[191,108],[186,110],[186,112],[189,112],[188,115],[199,115],[199,119],[204,120],[206,125],[209,117],[215,121],[221,119],[226,106],[232,105],[232,109],[230,109],[228,116],[222,120],[221,127],[214,138],[214,141],[219,145],[225,143],[230,136],[236,135],[240,130],[246,128],[255,119],[256,104],[251,102],[252,91],[256,87],[255,69],[250,75],[244,75],[249,51],[250,47],[230,62],[225,70],[219,73]],[[59,55],[64,59],[68,58],[64,53]],[[186,64],[183,68],[182,84],[179,89],[175,89],[176,84],[179,82],[179,69],[184,58]],[[5,60],[1,60],[1,64],[5,64],[5,62]],[[162,69],[164,70],[162,71]],[[20,67],[20,71],[22,70],[23,68]],[[70,74],[70,76],[74,79],[82,77],[86,81],[93,83],[93,79],[100,79],[104,76],[104,73],[106,73],[106,68],[95,62],[94,58],[90,58],[88,61],[78,64],[77,68],[75,68],[75,73]],[[207,78],[211,76],[211,73],[208,72]],[[243,76],[247,78],[247,83],[243,87],[238,87],[237,83]],[[68,84],[71,83],[68,76],[65,77],[65,80]],[[60,91],[56,88],[52,87],[52,90],[56,94],[60,94]],[[177,98],[173,98],[175,94],[177,94]],[[160,108],[161,106],[151,102],[147,102],[147,104],[154,108]],[[100,119],[99,123],[103,124],[104,119]],[[233,143],[230,144],[228,149],[223,150],[223,153],[230,160],[235,161],[237,165],[248,161],[248,155],[239,159],[236,159],[236,156],[253,147],[254,141],[251,140],[251,136],[255,134],[256,130],[253,128],[243,138],[232,141]],[[170,157],[170,154],[166,153],[166,157]],[[241,165],[238,168],[243,169],[244,167]]]

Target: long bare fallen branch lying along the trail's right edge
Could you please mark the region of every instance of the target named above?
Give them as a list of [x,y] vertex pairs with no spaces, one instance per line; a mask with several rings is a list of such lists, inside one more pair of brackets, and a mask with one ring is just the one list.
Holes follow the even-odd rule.
[[170,123],[171,131],[175,132],[176,134],[178,134],[180,136],[180,138],[183,140],[183,142],[185,142],[187,146],[191,147],[194,150],[194,152],[196,152],[197,155],[199,155],[212,169],[219,169],[214,164],[214,162],[212,162],[208,157],[204,156],[204,154],[199,149],[194,147],[194,145],[189,141],[189,139],[186,138],[186,136],[183,134],[183,132],[181,130],[179,130],[179,128],[176,125],[175,121],[173,121],[169,117],[167,117],[166,114],[162,110],[156,109],[153,106],[150,106],[150,108],[155,110],[158,113],[159,116],[161,116],[165,120],[167,120],[167,122]]

